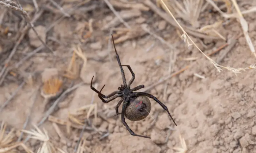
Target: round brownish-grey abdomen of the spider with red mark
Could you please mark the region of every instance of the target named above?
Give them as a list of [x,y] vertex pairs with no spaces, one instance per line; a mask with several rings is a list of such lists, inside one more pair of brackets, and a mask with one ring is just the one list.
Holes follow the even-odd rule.
[[146,96],[139,96],[125,109],[125,117],[131,121],[140,121],[148,116],[151,110],[150,100]]

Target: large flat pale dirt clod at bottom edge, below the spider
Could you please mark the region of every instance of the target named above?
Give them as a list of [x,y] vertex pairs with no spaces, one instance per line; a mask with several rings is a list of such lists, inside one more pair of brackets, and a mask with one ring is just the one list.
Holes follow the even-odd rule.
[[[160,153],[161,148],[151,139],[131,136],[127,133],[114,133],[109,136],[113,153]],[[129,142],[129,143],[127,143]]]

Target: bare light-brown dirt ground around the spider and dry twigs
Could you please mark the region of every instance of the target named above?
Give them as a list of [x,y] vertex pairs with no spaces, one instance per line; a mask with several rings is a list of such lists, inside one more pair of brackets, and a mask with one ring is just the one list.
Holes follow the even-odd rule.
[[[113,4],[113,1],[110,2]],[[248,3],[237,2],[241,11],[256,5],[255,0],[248,1]],[[30,8],[27,4],[34,8],[32,1],[21,1],[20,3],[27,10]],[[91,115],[85,123],[86,129],[83,130],[82,138],[84,138],[86,153],[174,153],[177,151],[175,148],[182,148],[180,138],[184,139],[187,145],[187,150],[183,148],[180,153],[256,153],[255,69],[241,71],[241,74],[237,75],[224,68],[223,71],[218,72],[196,47],[187,47],[187,44],[180,37],[182,32],[178,31],[178,28],[159,17],[152,8],[148,11],[142,11],[138,7],[136,11],[139,13],[136,15],[136,11],[134,11],[135,15],[131,15],[132,17],[125,20],[133,29],[129,33],[111,9],[101,0],[89,1],[81,5],[79,9],[70,13],[71,17],[65,17],[59,22],[56,21],[63,16],[59,9],[48,1],[45,3],[42,0],[37,3],[40,8],[44,8],[44,12],[34,23],[34,26],[42,39],[46,40],[46,44],[52,48],[54,54],[43,48],[15,67],[15,64],[41,46],[37,36],[29,30],[9,63],[13,67],[5,76],[0,87],[0,106],[3,106],[12,97],[12,93],[23,80],[26,83],[0,111],[0,121],[5,121],[9,129],[15,128],[17,138],[19,137],[19,130],[23,129],[28,116],[30,121],[26,126],[27,130],[33,127],[33,124],[41,121],[45,112],[53,105],[57,98],[44,102],[38,88],[42,87],[42,82],[49,79],[50,76],[59,76],[63,80],[63,90],[84,82],[83,85],[61,99],[51,114],[52,117],[63,121],[69,120],[71,124],[76,124],[76,126],[71,126],[69,133],[67,125],[57,123],[61,133],[63,133],[62,137],[56,132],[55,123],[49,119],[39,128],[45,128],[52,139],[52,143],[66,153],[74,151],[88,109],[83,112],[82,116],[78,117],[78,122],[83,123],[80,125],[70,119],[69,113],[75,113],[76,109],[91,104],[97,105],[98,117],[95,122],[94,115]],[[63,8],[68,8],[74,7],[78,1],[63,0],[57,3],[61,4]],[[155,4],[155,1],[153,3]],[[224,4],[222,1],[215,1],[215,3],[218,6]],[[146,7],[143,2],[136,2],[136,4],[143,4]],[[123,7],[118,8],[114,5],[118,12],[131,12],[130,9]],[[226,9],[223,8],[223,10]],[[33,19],[34,11],[28,12]],[[130,14],[127,12],[124,12],[124,15],[129,16]],[[162,10],[162,12],[164,11]],[[233,12],[236,11],[233,10]],[[1,19],[2,13],[4,13],[3,19]],[[255,15],[248,13],[244,17],[249,25],[249,36],[252,39],[252,44],[255,46]],[[19,36],[17,30],[20,26],[18,24],[24,21],[22,21],[20,13],[10,11],[10,9],[2,6],[0,6],[0,19],[2,20],[0,22],[1,70],[13,49],[15,36]],[[213,24],[218,20],[227,21],[211,5],[208,5],[207,9],[200,13],[198,19],[200,27]],[[179,18],[178,21],[190,26],[182,18]],[[227,41],[242,34],[238,20],[231,19],[228,21],[229,23],[225,26],[217,28]],[[54,26],[49,28],[54,22],[56,22]],[[109,24],[110,22],[113,23]],[[143,34],[141,32],[143,30],[138,28],[138,25],[142,23],[146,23],[151,32],[162,37],[168,44],[172,44],[175,50],[170,50],[165,43],[153,35]],[[106,27],[106,25],[110,26]],[[4,31],[6,27],[9,27],[8,32]],[[103,27],[106,30],[102,31]],[[102,91],[103,94],[117,90],[122,84],[113,44],[108,42],[110,27],[117,28],[113,33],[117,41],[116,48],[121,63],[129,64],[135,73],[132,87],[143,84],[146,89],[169,74],[174,74],[173,77],[147,89],[146,92],[155,95],[168,107],[178,126],[174,125],[161,106],[150,99],[152,109],[146,119],[136,122],[128,119],[126,121],[136,134],[150,136],[151,139],[131,136],[121,122],[121,115],[115,114],[115,106],[119,99],[110,103],[103,103],[98,95],[90,89],[93,75],[93,86],[97,86],[98,90],[106,84]],[[138,28],[137,31],[136,28]],[[128,38],[120,39],[123,36],[128,36]],[[137,37],[133,38],[133,36]],[[192,35],[191,37],[207,55],[226,44],[223,39],[200,39]],[[120,43],[118,43],[119,41]],[[63,74],[71,61],[74,45],[80,46],[86,57],[86,62],[79,56],[76,57],[75,62],[79,67],[76,69],[78,73],[71,79],[64,77]],[[228,46],[222,47],[210,57],[215,61],[218,60]],[[192,59],[195,57],[199,58]],[[85,64],[83,65],[83,63]],[[233,68],[245,68],[254,63],[255,57],[252,55],[244,35],[237,38],[234,47],[219,61],[220,65]],[[182,69],[184,71],[181,71]],[[124,67],[124,71],[128,82],[132,76],[126,67]],[[180,73],[175,74],[176,72]],[[141,89],[141,91],[143,90]],[[35,93],[38,94],[33,100]],[[35,102],[34,105],[32,105],[33,101]],[[119,112],[121,112],[121,107]],[[25,140],[26,136],[24,134],[22,141]],[[42,142],[30,139],[25,144],[37,152]],[[18,152],[25,151],[18,148]]]

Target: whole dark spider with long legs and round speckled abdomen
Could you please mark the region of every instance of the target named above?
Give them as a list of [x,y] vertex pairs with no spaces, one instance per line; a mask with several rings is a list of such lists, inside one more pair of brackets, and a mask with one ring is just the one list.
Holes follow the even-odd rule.
[[[127,130],[129,131],[129,133],[132,136],[150,138],[150,137],[147,137],[147,136],[142,136],[142,135],[135,134],[130,129],[130,127],[127,125],[127,123],[125,122],[125,117],[128,118],[131,121],[139,121],[139,120],[142,120],[142,119],[147,117],[147,115],[150,113],[150,110],[151,110],[151,103],[150,103],[150,100],[147,97],[149,97],[151,99],[154,99],[154,101],[156,101],[159,105],[161,105],[162,108],[167,111],[167,113],[171,117],[174,124],[177,126],[177,124],[175,123],[174,119],[172,118],[168,108],[162,102],[160,102],[156,97],[154,97],[153,95],[148,94],[148,93],[134,92],[134,91],[137,91],[139,89],[144,88],[145,87],[144,85],[139,85],[139,86],[136,86],[136,87],[131,89],[131,84],[133,83],[133,81],[135,79],[135,74],[134,74],[134,72],[132,71],[132,68],[129,65],[121,65],[119,56],[118,56],[117,51],[116,51],[116,46],[115,46],[115,43],[114,43],[113,35],[112,35],[112,40],[113,40],[114,50],[116,52],[116,59],[117,59],[118,65],[119,65],[120,70],[121,70],[123,85],[118,87],[117,91],[114,91],[113,93],[110,93],[109,95],[103,95],[101,93],[101,91],[105,87],[105,85],[101,88],[100,91],[95,89],[92,86],[93,78],[94,78],[94,76],[93,76],[93,78],[91,79],[91,89],[93,91],[95,91],[96,93],[98,93],[98,97],[104,103],[108,103],[108,102],[113,101],[114,99],[116,99],[118,97],[121,97],[121,100],[116,105],[116,114],[117,115],[121,114],[121,120],[123,122],[123,125],[127,128]],[[129,71],[131,72],[131,74],[132,74],[132,78],[131,78],[131,80],[129,81],[128,84],[126,82],[125,75],[124,75],[124,70],[123,70],[124,66],[127,67],[129,69]],[[103,98],[105,98],[106,100],[103,99]],[[118,113],[118,108],[119,108],[119,106],[121,105],[122,102],[123,102],[122,112]]]

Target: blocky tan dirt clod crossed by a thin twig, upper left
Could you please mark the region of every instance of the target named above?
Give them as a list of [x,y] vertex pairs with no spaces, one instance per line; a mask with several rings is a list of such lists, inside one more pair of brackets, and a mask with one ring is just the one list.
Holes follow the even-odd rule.
[[[34,28],[35,28],[35,31],[37,31],[39,37],[43,40],[43,42],[46,42],[46,33],[45,33],[46,28],[44,26],[37,26]],[[38,39],[37,35],[35,34],[32,28],[29,30],[29,39],[30,39],[31,46],[39,47],[42,45],[42,43],[40,42],[40,40]]]

